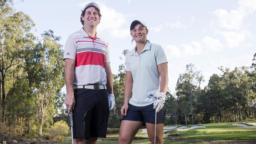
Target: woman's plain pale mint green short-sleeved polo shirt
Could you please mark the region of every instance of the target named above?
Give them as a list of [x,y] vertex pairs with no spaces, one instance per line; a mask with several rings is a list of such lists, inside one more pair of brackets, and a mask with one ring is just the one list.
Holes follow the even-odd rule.
[[131,71],[133,78],[130,104],[142,107],[154,102],[154,98],[147,96],[160,91],[160,74],[157,65],[161,63],[167,63],[163,48],[149,41],[140,55],[136,51],[136,46],[126,55],[126,71]]

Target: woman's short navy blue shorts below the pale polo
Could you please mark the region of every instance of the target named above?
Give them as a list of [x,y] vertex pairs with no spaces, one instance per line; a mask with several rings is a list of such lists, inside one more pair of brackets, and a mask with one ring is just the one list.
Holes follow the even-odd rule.
[[[153,109],[153,103],[143,107],[137,107],[129,103],[129,109],[126,116],[123,116],[122,120],[140,121],[144,123],[155,123],[156,110]],[[156,115],[156,123],[160,124],[164,122],[166,113],[166,104]],[[144,124],[143,124],[144,125]]]

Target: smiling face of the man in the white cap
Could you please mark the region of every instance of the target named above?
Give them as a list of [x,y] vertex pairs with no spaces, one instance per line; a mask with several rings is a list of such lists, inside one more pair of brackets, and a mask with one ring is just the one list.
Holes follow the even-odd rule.
[[85,10],[84,16],[82,16],[83,26],[97,26],[100,22],[98,11],[95,7],[91,6]]

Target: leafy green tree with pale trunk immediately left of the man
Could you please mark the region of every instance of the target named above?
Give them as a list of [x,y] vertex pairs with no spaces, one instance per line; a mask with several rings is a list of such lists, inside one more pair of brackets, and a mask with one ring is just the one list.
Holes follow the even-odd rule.
[[39,120],[39,135],[42,135],[45,114],[53,114],[55,97],[60,96],[64,85],[63,50],[53,31],[45,31],[42,41],[26,50],[26,72],[31,94],[35,96],[35,106]]

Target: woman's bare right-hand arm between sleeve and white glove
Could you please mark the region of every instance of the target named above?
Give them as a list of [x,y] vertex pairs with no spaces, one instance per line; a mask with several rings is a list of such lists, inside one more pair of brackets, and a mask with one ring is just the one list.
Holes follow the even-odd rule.
[[157,65],[160,74],[160,92],[166,93],[168,86],[168,68],[167,63]]

